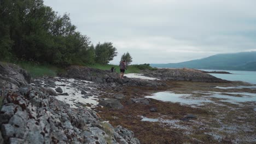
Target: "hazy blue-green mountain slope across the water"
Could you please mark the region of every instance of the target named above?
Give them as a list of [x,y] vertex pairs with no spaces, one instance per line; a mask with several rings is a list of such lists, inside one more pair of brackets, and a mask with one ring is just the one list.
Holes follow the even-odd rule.
[[193,61],[167,64],[150,64],[155,68],[194,68],[219,70],[250,70],[256,71],[256,51],[225,53]]

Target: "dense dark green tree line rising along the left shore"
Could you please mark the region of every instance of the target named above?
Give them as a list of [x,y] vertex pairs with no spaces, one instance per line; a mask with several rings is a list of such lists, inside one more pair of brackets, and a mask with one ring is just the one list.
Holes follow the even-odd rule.
[[117,56],[112,43],[91,44],[68,14],[59,15],[43,0],[0,1],[0,61],[54,65],[107,64]]

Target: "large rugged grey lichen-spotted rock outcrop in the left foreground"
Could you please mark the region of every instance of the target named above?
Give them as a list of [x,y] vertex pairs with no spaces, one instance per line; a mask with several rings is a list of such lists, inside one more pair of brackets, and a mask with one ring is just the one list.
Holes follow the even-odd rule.
[[[117,100],[117,99],[115,99]],[[50,97],[39,87],[5,95],[0,112],[4,143],[139,143],[132,131],[101,122],[93,110]],[[1,134],[0,133],[0,134]]]

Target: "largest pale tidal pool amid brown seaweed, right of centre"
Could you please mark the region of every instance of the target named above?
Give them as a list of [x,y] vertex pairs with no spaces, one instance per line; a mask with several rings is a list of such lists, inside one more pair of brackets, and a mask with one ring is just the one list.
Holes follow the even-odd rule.
[[176,94],[174,92],[158,92],[154,93],[153,96],[147,96],[146,98],[188,105],[203,105],[202,103],[212,102],[211,100],[205,98],[192,97],[192,94]]

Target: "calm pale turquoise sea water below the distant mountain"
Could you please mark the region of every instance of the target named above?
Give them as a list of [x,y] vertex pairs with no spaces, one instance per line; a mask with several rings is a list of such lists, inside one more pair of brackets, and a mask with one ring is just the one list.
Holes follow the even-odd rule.
[[211,74],[220,79],[229,80],[229,81],[244,81],[256,84],[256,71],[238,71],[238,70],[209,70],[202,69],[205,71],[228,71],[232,74]]

